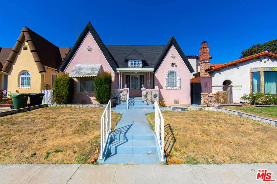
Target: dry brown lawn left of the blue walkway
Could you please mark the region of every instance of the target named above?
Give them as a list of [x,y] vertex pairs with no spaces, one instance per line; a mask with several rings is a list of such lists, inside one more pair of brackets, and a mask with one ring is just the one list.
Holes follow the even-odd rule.
[[[0,118],[0,164],[89,163],[104,108],[45,107]],[[121,114],[112,112],[112,129]]]

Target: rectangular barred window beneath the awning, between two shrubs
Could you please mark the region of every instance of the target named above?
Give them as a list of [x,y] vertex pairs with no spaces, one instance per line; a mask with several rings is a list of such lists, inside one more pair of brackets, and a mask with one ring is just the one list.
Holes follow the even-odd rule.
[[94,93],[94,78],[93,77],[78,77],[77,78],[77,93],[93,94]]

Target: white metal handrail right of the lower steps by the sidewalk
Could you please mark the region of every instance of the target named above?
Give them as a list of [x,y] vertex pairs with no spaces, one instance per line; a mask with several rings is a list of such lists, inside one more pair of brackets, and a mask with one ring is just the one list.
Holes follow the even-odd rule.
[[157,135],[157,139],[160,147],[161,161],[164,161],[165,159],[163,158],[163,142],[164,142],[165,121],[163,119],[163,115],[161,114],[161,110],[156,100],[154,103],[154,107],[155,107],[155,133]]

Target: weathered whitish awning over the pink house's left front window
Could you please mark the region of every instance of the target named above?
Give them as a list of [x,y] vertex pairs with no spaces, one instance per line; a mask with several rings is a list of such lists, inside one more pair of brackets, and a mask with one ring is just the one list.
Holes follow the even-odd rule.
[[93,77],[99,73],[101,65],[77,64],[70,72],[70,77]]

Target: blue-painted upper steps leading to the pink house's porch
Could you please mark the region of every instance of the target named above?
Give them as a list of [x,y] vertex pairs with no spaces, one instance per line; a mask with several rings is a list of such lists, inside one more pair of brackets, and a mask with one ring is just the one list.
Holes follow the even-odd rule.
[[[129,109],[153,109],[153,105],[143,102],[142,97],[129,97]],[[116,105],[117,109],[127,109],[127,102]]]

